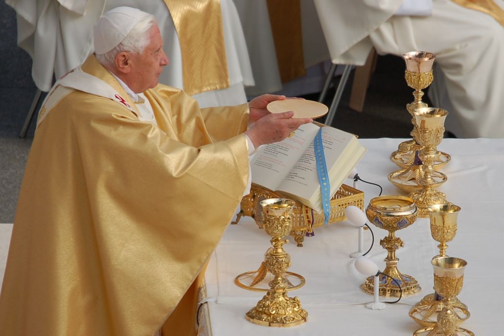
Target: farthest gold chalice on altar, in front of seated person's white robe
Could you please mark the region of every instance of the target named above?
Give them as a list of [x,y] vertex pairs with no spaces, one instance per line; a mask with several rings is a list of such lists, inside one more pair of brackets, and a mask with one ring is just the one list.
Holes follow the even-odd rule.
[[[409,87],[415,89],[413,91],[413,96],[415,99],[413,102],[406,105],[406,109],[411,115],[411,123],[413,124],[413,130],[411,131],[411,136],[413,140],[405,141],[399,144],[398,149],[392,153],[390,159],[396,163],[399,167],[404,170],[408,170],[413,164],[415,158],[415,152],[422,149],[422,145],[416,139],[417,123],[414,116],[414,110],[420,107],[427,107],[427,104],[422,101],[423,91],[428,87],[433,80],[432,75],[432,65],[436,56],[431,52],[426,51],[410,51],[403,54],[403,59],[406,63],[406,70],[404,77],[406,83]],[[434,169],[438,170],[440,167],[450,161],[450,155],[438,152],[433,163]],[[409,175],[410,172],[406,172],[403,175]]]

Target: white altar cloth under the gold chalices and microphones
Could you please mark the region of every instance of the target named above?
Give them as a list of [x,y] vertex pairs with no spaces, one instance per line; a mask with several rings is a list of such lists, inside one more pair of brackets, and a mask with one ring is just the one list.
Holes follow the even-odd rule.
[[[359,162],[359,176],[384,187],[383,195],[404,195],[387,181],[387,175],[397,170],[389,160],[399,139],[361,139],[368,152]],[[448,181],[440,188],[447,199],[459,206],[458,233],[449,242],[448,255],[466,259],[464,287],[459,299],[469,306],[471,317],[463,327],[478,335],[498,334],[502,311],[498,305],[504,299],[504,270],[498,250],[504,241],[504,226],[500,211],[504,206],[504,139],[445,139],[438,147],[452,155],[443,169]],[[351,180],[347,184],[351,185]],[[379,190],[359,182],[365,193],[365,206]],[[371,226],[375,244],[369,258],[380,270],[385,268],[386,251],[379,245],[386,231]],[[269,236],[258,229],[254,220],[245,217],[238,225],[226,230],[214,251],[206,273],[210,316],[209,334],[225,336],[240,334],[269,335],[405,335],[420,326],[409,316],[411,306],[432,293],[433,276],[430,259],[438,250],[430,236],[429,219],[419,218],[412,226],[397,232],[404,247],[397,251],[401,272],[414,276],[422,291],[406,297],[399,304],[388,304],[385,310],[372,311],[363,303],[372,297],[360,291],[365,276],[355,271],[351,252],[357,250],[357,229],[347,221],[314,229],[314,237],[306,237],[304,247],[290,243],[284,248],[290,253],[290,271],[306,278],[306,285],[290,292],[297,296],[308,312],[308,322],[294,328],[273,328],[246,321],[245,313],[263,294],[250,292],[234,284],[236,275],[257,269],[264,252],[270,246]],[[370,244],[365,232],[364,248]],[[381,301],[394,301],[394,298]]]

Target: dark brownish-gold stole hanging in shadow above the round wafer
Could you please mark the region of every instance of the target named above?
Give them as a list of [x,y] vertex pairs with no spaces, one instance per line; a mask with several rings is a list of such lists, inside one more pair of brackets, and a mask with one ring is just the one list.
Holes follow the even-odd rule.
[[282,83],[304,76],[301,5],[299,0],[268,0],[278,70]]

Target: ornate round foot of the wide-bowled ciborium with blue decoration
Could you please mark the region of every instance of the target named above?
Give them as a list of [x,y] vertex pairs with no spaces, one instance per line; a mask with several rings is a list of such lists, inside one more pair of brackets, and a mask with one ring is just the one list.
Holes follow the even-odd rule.
[[[403,290],[403,297],[414,295],[422,290],[416,279],[408,274],[400,274],[402,278],[395,278]],[[360,289],[369,295],[374,294],[374,276],[368,276],[366,281],[360,285]],[[388,276],[380,274],[379,295],[384,298],[399,297],[401,291],[396,283]]]

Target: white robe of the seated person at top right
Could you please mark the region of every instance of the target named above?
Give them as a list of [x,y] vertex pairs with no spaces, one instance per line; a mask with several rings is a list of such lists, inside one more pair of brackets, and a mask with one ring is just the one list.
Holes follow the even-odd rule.
[[436,107],[450,113],[447,130],[504,138],[504,28],[491,16],[450,0],[433,0],[426,17],[394,16],[400,0],[314,1],[333,63],[363,65],[372,46],[398,56],[433,52],[437,69],[429,95],[441,93]]

